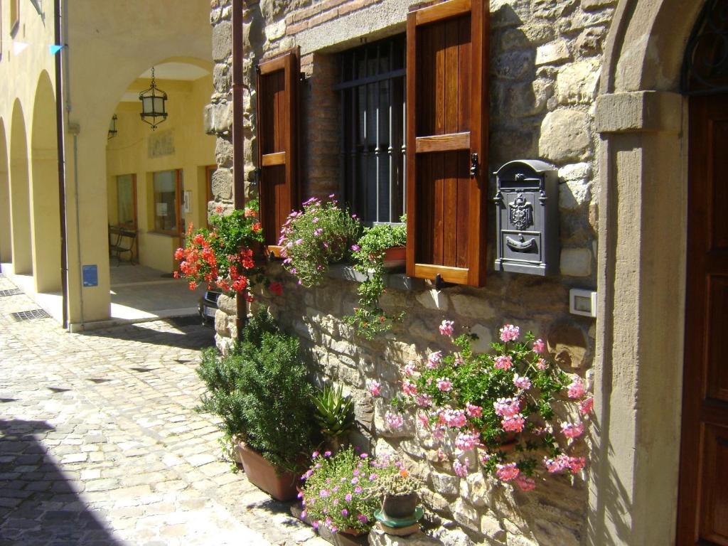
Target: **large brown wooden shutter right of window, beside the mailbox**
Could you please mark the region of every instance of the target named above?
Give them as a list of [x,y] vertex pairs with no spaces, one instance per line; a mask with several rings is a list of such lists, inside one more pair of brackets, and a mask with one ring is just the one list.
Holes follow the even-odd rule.
[[[488,1],[407,18],[407,274],[482,286],[488,190]],[[477,154],[471,173],[473,154]]]

